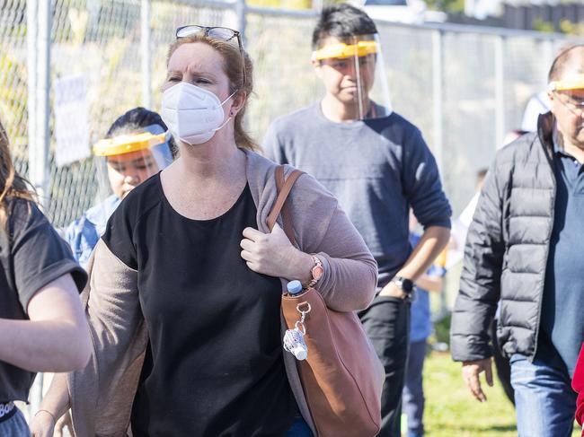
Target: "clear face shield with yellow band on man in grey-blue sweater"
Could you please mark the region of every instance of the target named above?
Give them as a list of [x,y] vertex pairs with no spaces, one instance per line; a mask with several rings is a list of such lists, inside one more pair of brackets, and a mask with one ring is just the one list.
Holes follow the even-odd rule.
[[313,63],[328,93],[341,101],[356,120],[392,113],[387,74],[379,36],[329,38],[313,52]]

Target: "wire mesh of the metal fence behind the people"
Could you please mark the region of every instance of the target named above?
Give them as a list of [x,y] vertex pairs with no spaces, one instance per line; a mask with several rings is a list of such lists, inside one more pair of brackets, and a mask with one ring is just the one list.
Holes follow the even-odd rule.
[[[141,0],[53,0],[51,80],[83,74],[87,81],[93,143],[123,112],[139,106],[144,72],[141,53]],[[26,1],[0,3],[0,109],[18,170],[28,169]],[[199,5],[158,0],[150,7],[150,75],[154,109],[160,105],[166,56],[173,31],[185,23],[236,27],[234,4]],[[270,122],[314,101],[323,91],[310,63],[314,17],[272,15],[254,9],[245,17],[245,39],[254,61],[255,92],[247,127],[261,142]],[[496,34],[441,33],[441,71],[433,64],[436,28],[379,23],[394,109],[410,119],[436,149],[436,123],[442,130],[442,177],[455,213],[473,194],[476,170],[487,167],[498,137]],[[495,32],[496,33],[496,32]],[[518,127],[526,101],[544,89],[545,74],[565,41],[533,33],[505,36],[504,129]],[[435,74],[441,74],[442,117],[436,118]],[[499,90],[499,92],[500,92]],[[52,98],[52,96],[51,96]],[[64,226],[93,204],[93,160],[58,167],[54,118],[50,118],[49,202],[56,226]]]

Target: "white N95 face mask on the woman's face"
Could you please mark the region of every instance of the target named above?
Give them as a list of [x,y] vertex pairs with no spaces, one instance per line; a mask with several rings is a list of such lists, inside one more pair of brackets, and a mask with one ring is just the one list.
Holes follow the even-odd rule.
[[160,115],[176,139],[191,145],[203,144],[231,118],[225,120],[223,104],[234,93],[225,101],[219,101],[213,92],[199,86],[186,82],[177,83],[163,92]]

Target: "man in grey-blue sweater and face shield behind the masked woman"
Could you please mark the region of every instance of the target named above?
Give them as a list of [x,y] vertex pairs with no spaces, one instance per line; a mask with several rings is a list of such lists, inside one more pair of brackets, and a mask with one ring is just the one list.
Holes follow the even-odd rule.
[[[413,284],[446,246],[451,210],[420,130],[391,109],[375,23],[326,7],[313,48],[322,101],[275,120],[263,146],[331,190],[376,258],[377,295],[360,316],[385,366],[379,435],[398,437]],[[415,248],[410,208],[424,227]]]

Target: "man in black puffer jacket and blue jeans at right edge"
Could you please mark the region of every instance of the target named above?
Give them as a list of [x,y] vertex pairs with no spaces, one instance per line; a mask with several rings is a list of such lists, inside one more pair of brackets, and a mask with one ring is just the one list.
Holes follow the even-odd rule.
[[501,149],[485,179],[450,330],[466,386],[485,401],[479,376],[492,385],[488,327],[500,302],[520,437],[571,435],[584,340],[584,45],[555,58],[548,83],[538,131]]

